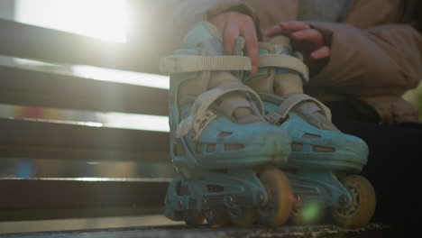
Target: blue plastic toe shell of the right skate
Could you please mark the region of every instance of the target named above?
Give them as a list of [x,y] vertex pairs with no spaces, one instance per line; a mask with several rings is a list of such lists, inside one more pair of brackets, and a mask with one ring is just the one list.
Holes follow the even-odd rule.
[[[280,97],[270,95],[265,97],[266,100],[263,102],[265,111],[277,112],[281,104],[280,99],[277,99]],[[272,102],[269,102],[269,97],[273,99]],[[280,124],[280,127],[289,132],[293,144],[298,145],[300,149],[291,151],[285,168],[359,172],[367,162],[368,146],[356,136],[316,128],[294,112],[289,112],[287,120]],[[316,147],[326,151],[317,151]]]

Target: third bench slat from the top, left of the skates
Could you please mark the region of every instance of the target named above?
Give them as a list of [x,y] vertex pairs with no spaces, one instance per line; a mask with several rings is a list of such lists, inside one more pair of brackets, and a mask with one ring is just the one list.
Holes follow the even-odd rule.
[[170,162],[169,133],[0,118],[0,157]]

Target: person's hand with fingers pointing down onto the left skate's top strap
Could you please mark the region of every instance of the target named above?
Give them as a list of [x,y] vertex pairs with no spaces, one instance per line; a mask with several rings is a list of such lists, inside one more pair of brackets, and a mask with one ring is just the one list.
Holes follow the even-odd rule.
[[246,52],[252,62],[251,73],[252,75],[256,74],[259,66],[259,46],[252,18],[246,14],[226,12],[216,15],[210,20],[210,23],[215,24],[221,33],[225,54],[227,55],[233,54],[237,37],[243,36],[246,43]]

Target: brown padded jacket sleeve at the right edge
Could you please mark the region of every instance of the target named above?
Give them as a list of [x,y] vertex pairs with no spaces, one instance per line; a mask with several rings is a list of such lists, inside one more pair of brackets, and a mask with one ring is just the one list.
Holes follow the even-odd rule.
[[422,36],[406,24],[358,29],[310,23],[331,45],[328,63],[309,86],[335,87],[352,96],[401,96],[422,78]]

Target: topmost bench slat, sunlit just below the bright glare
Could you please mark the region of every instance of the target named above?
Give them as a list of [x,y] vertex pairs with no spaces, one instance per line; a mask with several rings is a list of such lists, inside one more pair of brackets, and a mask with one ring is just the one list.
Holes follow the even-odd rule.
[[[151,49],[0,19],[0,55],[158,73]],[[137,49],[135,49],[137,48]],[[153,55],[153,54],[152,54]]]

